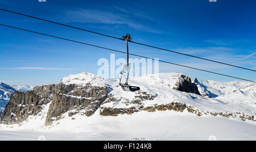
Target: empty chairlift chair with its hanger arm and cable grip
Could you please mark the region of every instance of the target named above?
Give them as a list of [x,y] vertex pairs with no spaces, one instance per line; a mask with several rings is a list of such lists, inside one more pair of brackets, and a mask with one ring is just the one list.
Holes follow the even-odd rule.
[[[126,48],[127,48],[127,63],[123,65],[123,70],[121,71],[121,77],[119,77],[119,85],[122,87],[124,91],[139,91],[141,88],[135,87],[135,86],[130,86],[128,84],[128,79],[129,79],[129,73],[130,73],[130,66],[129,64],[129,47],[128,47],[128,42],[131,40],[131,35],[126,34],[125,36],[122,37],[123,41],[126,41]],[[126,79],[125,83],[122,83],[123,77]]]

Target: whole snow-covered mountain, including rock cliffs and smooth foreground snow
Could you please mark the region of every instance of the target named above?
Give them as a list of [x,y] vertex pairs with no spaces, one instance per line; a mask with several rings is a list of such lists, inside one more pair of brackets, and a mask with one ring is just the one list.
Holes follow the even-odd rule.
[[179,73],[131,78],[131,85],[141,87],[137,92],[123,91],[118,83],[81,73],[56,85],[15,92],[0,130],[65,132],[57,136],[77,140],[256,138],[254,83],[193,83]]

